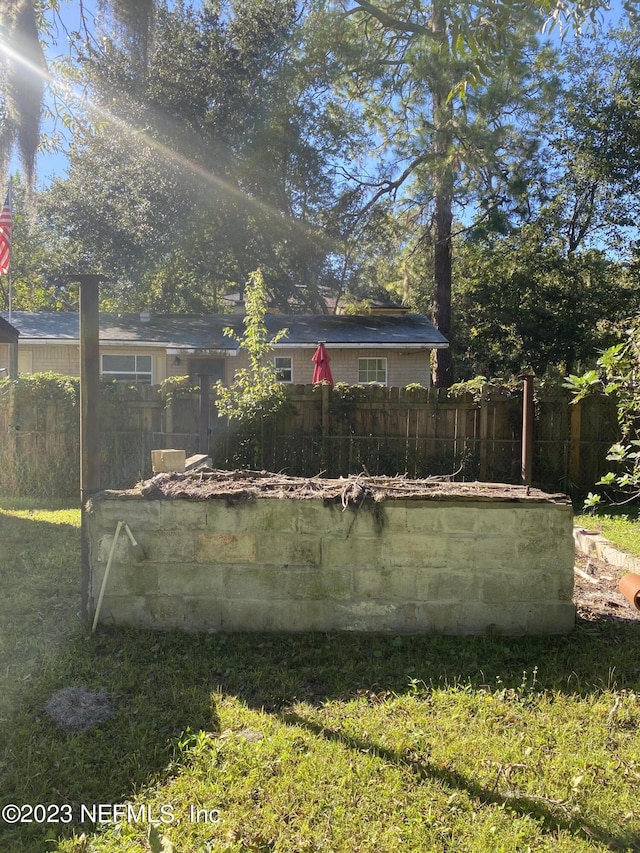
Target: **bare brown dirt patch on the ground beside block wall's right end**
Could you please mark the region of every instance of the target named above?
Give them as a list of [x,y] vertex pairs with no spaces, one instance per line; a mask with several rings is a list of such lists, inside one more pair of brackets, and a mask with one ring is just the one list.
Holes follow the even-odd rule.
[[625,569],[576,551],[573,600],[578,616],[588,622],[640,622],[640,610],[618,592],[618,581],[624,574]]

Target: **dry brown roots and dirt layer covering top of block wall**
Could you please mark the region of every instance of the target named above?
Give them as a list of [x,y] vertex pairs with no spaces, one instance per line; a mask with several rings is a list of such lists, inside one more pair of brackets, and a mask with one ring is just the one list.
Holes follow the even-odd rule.
[[[112,494],[112,493],[110,493]],[[192,500],[248,500],[261,498],[322,498],[343,504],[369,499],[474,500],[474,501],[553,501],[567,503],[566,495],[547,494],[528,486],[508,483],[456,483],[446,477],[423,480],[408,477],[354,475],[337,480],[324,477],[288,477],[268,471],[222,471],[198,468],[184,474],[156,474],[129,494],[147,498],[190,498]],[[126,497],[127,492],[120,492]]]

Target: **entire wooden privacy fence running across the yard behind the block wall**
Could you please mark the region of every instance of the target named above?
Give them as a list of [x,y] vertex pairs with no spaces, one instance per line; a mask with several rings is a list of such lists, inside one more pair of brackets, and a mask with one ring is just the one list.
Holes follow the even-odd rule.
[[[486,386],[476,395],[445,389],[287,386],[275,419],[239,428],[209,412],[209,452],[221,468],[266,468],[297,476],[407,474],[518,483],[522,395]],[[0,396],[0,491],[78,491],[78,406],[46,394]],[[199,447],[197,391],[105,384],[101,398],[103,488],[151,473],[151,450]],[[570,405],[564,389],[536,392],[533,484],[584,493],[606,470],[618,438],[615,405],[591,397]]]

